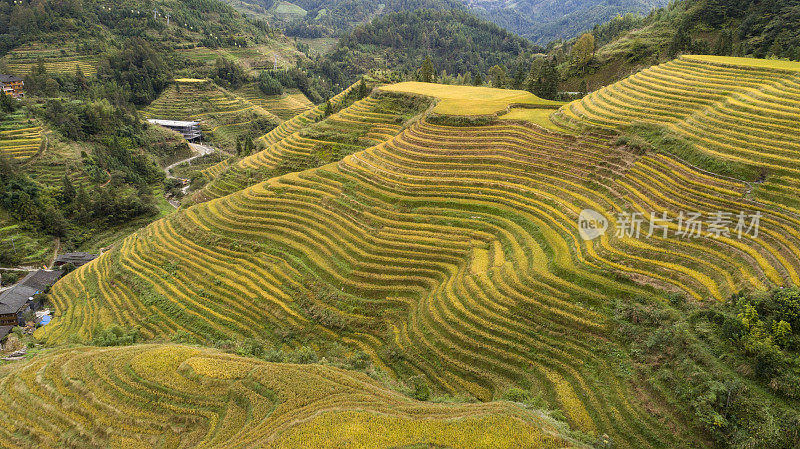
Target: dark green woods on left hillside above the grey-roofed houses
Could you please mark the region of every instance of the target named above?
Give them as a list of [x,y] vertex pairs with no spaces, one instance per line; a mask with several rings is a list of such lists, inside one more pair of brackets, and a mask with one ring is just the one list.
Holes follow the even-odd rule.
[[14,101],[54,132],[45,145],[71,142],[83,149],[61,182],[39,182],[7,158],[0,167],[0,207],[23,228],[61,237],[66,246],[80,244],[87,229],[156,214],[153,189],[164,178],[158,158],[177,148],[154,142],[161,137],[147,132],[135,110],[171,79],[162,53],[131,38],[99,65],[89,82],[79,68],[51,74],[37,64],[25,77],[30,99]]

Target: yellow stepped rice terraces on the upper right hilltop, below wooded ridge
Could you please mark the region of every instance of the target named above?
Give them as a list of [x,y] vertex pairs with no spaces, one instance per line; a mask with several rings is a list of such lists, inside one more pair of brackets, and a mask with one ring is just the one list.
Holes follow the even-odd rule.
[[[673,151],[710,171],[764,181],[755,197],[800,212],[800,63],[682,56],[564,106],[564,127],[657,124],[690,143]],[[686,145],[683,145],[686,147]]]

